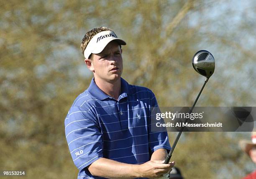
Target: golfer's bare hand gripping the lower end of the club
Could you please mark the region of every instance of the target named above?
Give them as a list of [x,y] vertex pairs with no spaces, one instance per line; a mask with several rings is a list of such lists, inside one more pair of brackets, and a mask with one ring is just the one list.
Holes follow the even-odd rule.
[[157,179],[172,171],[173,166],[174,161],[169,164],[164,164],[164,161],[148,161],[139,166],[139,173],[141,177]]

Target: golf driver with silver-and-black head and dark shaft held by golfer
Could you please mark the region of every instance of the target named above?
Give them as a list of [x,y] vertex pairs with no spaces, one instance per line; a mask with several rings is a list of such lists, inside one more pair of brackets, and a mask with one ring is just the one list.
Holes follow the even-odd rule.
[[[213,72],[214,72],[214,69],[215,69],[215,60],[214,60],[214,57],[212,56],[212,54],[209,52],[209,51],[206,51],[206,50],[200,50],[200,51],[197,51],[197,53],[195,53],[195,55],[193,56],[193,59],[192,59],[192,65],[195,69],[195,71],[197,71],[197,73],[201,74],[202,76],[205,76],[206,79],[205,79],[205,83],[204,85],[202,86],[199,94],[197,95],[197,98],[194,102],[194,105],[192,106],[190,113],[192,113],[196,103],[197,103],[197,100],[198,98],[200,97],[201,93],[202,93],[202,90],[204,89],[205,87],[205,84],[207,83],[208,79],[212,76]],[[189,118],[187,118],[185,120],[185,123],[187,123],[187,120]],[[168,164],[171,157],[172,157],[172,153],[174,151],[174,148],[179,140],[179,137],[180,135],[182,134],[182,131],[184,130],[184,126],[181,128],[181,130],[179,131],[173,145],[172,145],[172,149],[171,151],[168,153],[168,155],[166,156],[165,158],[165,161],[164,161],[164,164]]]

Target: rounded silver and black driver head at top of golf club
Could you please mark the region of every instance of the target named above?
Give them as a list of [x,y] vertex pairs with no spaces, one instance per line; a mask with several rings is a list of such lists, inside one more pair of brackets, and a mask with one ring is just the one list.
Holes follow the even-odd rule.
[[215,69],[215,59],[209,51],[200,50],[193,56],[192,65],[197,73],[209,79]]

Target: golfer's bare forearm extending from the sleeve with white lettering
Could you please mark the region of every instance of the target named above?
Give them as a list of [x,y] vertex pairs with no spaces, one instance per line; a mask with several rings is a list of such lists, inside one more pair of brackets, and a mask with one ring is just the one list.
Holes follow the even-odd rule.
[[140,177],[139,165],[125,164],[100,158],[88,166],[90,173],[109,179],[133,179]]

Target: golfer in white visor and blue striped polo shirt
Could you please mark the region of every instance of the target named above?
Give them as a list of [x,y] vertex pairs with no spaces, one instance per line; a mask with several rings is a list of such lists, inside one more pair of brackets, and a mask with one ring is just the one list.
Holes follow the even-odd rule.
[[82,39],[84,62],[94,78],[65,119],[79,179],[158,178],[174,166],[163,164],[170,150],[167,132],[151,132],[154,93],[121,78],[125,44],[105,27],[88,31]]

